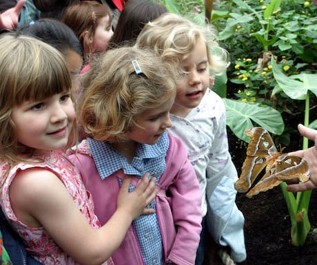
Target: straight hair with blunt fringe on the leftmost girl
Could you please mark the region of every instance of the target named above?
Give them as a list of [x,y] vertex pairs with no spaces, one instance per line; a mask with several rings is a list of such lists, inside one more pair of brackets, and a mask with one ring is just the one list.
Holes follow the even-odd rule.
[[[22,161],[21,153],[34,149],[17,142],[12,108],[26,100],[41,101],[72,89],[63,55],[32,36],[6,33],[0,36],[0,158]],[[76,138],[76,124],[73,125]]]

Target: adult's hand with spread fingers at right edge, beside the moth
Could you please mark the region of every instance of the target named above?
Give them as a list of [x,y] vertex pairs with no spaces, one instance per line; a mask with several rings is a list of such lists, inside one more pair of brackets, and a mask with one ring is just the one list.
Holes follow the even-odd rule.
[[309,189],[317,188],[317,130],[310,129],[304,125],[298,125],[298,131],[303,136],[307,137],[309,140],[315,142],[314,147],[310,147],[306,150],[299,150],[289,153],[290,156],[300,156],[305,158],[309,164],[309,178],[307,182],[299,184],[289,184],[287,186],[287,191],[307,191]]

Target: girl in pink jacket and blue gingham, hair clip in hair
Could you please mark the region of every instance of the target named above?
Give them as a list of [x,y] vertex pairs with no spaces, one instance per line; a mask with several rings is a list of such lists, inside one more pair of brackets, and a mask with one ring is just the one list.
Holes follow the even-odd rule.
[[183,144],[165,131],[172,125],[176,70],[152,52],[119,47],[105,52],[83,81],[79,122],[88,139],[70,158],[101,224],[116,209],[125,176],[132,176],[132,191],[149,172],[159,189],[150,204],[156,213],[132,222],[112,255],[116,265],[194,264],[201,191]]

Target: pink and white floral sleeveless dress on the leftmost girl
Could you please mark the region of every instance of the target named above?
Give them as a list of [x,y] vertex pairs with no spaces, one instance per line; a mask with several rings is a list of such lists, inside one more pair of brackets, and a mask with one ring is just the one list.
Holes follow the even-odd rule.
[[[37,160],[37,163],[21,162],[12,167],[9,173],[8,162],[1,162],[1,178],[3,179],[3,176],[6,176],[8,173],[1,194],[2,211],[13,228],[22,237],[26,249],[35,259],[39,260],[39,262],[45,265],[77,265],[78,263],[75,262],[72,257],[55,244],[43,227],[30,227],[23,224],[12,211],[9,187],[17,175],[17,172],[32,167],[40,167],[54,172],[63,182],[70,195],[72,195],[74,203],[79,207],[79,210],[88,220],[92,229],[96,230],[100,227],[99,220],[96,215],[94,215],[94,203],[90,193],[86,191],[79,172],[68,158],[64,156],[64,153],[61,151],[51,151],[50,153],[38,154],[33,157]],[[39,160],[43,162],[38,162]],[[112,259],[108,259],[108,262],[105,262],[104,265],[105,264],[113,265]]]

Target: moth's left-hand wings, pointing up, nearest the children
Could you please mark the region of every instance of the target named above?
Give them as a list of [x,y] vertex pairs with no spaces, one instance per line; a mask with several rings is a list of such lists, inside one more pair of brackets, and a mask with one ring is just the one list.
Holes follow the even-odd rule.
[[269,157],[278,153],[272,137],[262,127],[247,129],[245,135],[251,140],[247,146],[247,157],[243,162],[241,176],[234,185],[238,192],[248,191],[258,174],[267,166]]

